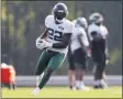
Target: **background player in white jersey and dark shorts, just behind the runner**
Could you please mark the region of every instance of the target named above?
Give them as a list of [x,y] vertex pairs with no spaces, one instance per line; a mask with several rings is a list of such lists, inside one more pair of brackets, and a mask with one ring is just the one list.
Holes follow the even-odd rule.
[[75,28],[72,31],[71,41],[69,44],[68,61],[69,61],[69,88],[72,89],[76,80],[76,88],[88,90],[83,84],[83,75],[86,70],[87,51],[89,42],[87,37],[87,20],[78,18],[74,21]]

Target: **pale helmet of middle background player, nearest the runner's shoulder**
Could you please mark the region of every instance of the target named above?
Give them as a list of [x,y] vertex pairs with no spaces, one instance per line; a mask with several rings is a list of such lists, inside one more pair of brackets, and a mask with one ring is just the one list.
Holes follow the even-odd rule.
[[82,26],[83,29],[88,28],[88,22],[86,18],[77,18],[76,25]]

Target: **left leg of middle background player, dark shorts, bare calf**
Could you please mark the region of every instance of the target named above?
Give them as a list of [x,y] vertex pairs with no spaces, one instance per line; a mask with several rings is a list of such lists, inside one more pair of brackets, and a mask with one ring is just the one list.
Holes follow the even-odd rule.
[[68,70],[68,81],[69,81],[69,88],[72,89],[75,85],[75,63],[74,63],[74,54],[71,51],[68,51],[68,63],[69,63],[69,70]]

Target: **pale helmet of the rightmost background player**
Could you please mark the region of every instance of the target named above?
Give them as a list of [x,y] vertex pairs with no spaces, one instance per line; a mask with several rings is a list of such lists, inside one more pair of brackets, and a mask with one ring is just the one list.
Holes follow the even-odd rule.
[[89,22],[90,23],[102,23],[103,16],[102,16],[102,14],[94,12],[89,16]]

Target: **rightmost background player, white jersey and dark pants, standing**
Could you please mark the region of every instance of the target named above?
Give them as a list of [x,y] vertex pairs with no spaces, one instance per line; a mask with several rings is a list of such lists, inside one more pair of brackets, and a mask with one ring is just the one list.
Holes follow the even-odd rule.
[[94,62],[94,88],[105,88],[107,84],[103,80],[105,62],[108,62],[108,30],[102,24],[103,16],[100,13],[92,13],[89,16],[90,25],[88,35],[91,45],[91,55]]

